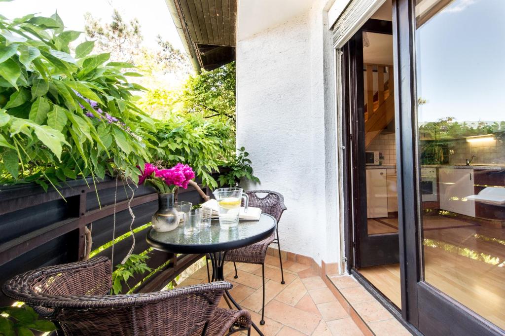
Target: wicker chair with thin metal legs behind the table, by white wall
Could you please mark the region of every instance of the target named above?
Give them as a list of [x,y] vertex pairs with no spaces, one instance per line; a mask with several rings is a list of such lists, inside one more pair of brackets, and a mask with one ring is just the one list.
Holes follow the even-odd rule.
[[[281,219],[282,213],[286,210],[284,205],[284,197],[271,190],[249,190],[245,191],[249,196],[249,207],[260,208],[263,213],[273,216],[277,223]],[[266,194],[264,197],[260,197],[258,194]],[[237,266],[235,263],[247,263],[247,264],[261,264],[262,265],[262,275],[263,275],[263,309],[261,314],[260,324],[265,324],[265,257],[267,254],[267,249],[270,244],[277,244],[279,250],[279,262],[281,266],[281,283],[284,284],[284,271],[282,269],[282,257],[281,257],[281,246],[279,243],[279,229],[276,228],[276,232],[270,237],[264,239],[261,242],[236,249],[231,250],[226,253],[225,260],[233,261],[233,266],[235,267],[235,276],[238,278]],[[209,266],[207,266],[209,267]],[[209,270],[207,268],[207,270]]]

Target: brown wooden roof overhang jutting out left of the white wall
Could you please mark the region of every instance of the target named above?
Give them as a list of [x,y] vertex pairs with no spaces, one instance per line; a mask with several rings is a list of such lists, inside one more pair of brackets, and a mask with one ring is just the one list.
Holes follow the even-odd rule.
[[235,60],[237,0],[166,0],[196,71]]

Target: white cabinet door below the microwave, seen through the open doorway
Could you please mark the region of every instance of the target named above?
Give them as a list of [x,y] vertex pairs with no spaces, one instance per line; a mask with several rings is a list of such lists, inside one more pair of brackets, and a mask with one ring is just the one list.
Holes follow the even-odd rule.
[[367,169],[367,218],[387,217],[386,169]]

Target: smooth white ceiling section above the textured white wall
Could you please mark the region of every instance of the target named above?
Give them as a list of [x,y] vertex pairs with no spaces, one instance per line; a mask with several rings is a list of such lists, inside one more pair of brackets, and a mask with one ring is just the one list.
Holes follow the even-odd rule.
[[237,40],[246,39],[307,12],[311,0],[238,0]]

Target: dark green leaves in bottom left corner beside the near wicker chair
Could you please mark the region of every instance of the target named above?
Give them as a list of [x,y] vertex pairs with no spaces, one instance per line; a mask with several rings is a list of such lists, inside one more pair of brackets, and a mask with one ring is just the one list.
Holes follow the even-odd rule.
[[39,319],[38,314],[29,306],[4,307],[0,316],[0,335],[33,336],[33,331],[50,332],[56,330],[53,322]]

